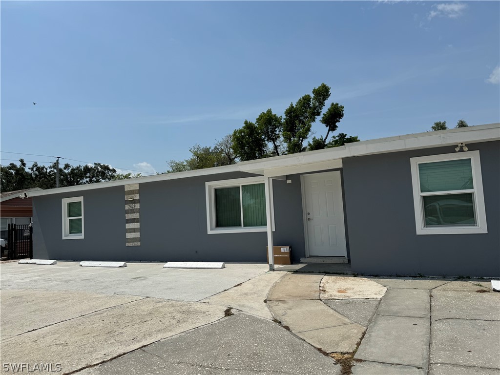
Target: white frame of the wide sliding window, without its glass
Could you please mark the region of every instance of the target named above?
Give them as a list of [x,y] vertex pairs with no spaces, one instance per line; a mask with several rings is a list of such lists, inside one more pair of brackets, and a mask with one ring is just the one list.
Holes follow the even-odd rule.
[[[265,232],[267,231],[267,226],[242,226],[243,225],[243,211],[241,210],[241,226],[234,227],[223,227],[217,228],[215,226],[215,189],[221,187],[238,187],[241,191],[241,185],[250,185],[254,183],[264,183],[264,177],[246,177],[246,178],[234,178],[225,179],[220,181],[208,181],[205,182],[205,196],[206,196],[206,229],[208,234],[220,234],[220,233],[247,233],[247,232]],[[270,180],[271,191],[272,191],[272,179]],[[267,192],[266,192],[267,193]],[[241,204],[241,194],[240,194],[240,204]],[[271,224],[272,230],[274,231],[274,203],[271,199]],[[267,209],[267,208],[266,208]]]

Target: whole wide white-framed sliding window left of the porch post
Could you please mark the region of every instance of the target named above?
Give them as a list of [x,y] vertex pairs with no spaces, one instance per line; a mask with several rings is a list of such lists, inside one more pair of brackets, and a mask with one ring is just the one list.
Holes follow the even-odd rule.
[[250,177],[206,182],[208,233],[265,231],[265,187]]

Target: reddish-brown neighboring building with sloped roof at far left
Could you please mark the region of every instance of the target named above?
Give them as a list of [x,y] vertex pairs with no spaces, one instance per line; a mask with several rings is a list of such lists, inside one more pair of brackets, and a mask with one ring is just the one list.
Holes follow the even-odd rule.
[[0,193],[0,237],[7,239],[8,224],[29,224],[33,216],[33,198],[28,192],[39,191],[41,188],[33,187],[23,190],[7,191]]

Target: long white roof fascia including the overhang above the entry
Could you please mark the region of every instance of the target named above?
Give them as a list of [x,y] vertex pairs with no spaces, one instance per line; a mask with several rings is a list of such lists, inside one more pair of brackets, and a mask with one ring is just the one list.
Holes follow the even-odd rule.
[[[263,174],[272,177],[284,174],[338,168],[342,166],[341,159],[343,157],[438,147],[453,145],[458,142],[473,143],[491,140],[500,140],[500,123],[489,123],[485,125],[475,125],[439,131],[425,131],[423,133],[363,140],[359,142],[346,143],[340,147],[300,152],[290,155],[273,156],[265,159],[241,161],[237,164],[213,168],[195,169],[184,172],[156,174],[152,176],[135,177],[117,181],[104,181],[85,185],[32,191],[28,193],[28,196],[49,195],[121,186],[129,183],[163,181],[239,171],[261,175]],[[328,165],[333,166],[327,167]]]

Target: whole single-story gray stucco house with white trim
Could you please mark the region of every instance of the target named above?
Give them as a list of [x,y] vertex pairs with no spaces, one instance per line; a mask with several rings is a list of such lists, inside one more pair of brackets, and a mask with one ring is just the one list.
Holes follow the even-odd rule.
[[350,262],[379,275],[500,274],[500,124],[32,191],[33,256]]

